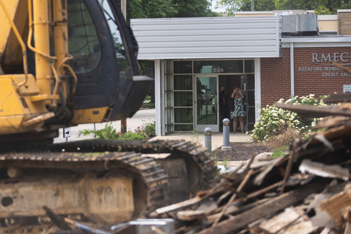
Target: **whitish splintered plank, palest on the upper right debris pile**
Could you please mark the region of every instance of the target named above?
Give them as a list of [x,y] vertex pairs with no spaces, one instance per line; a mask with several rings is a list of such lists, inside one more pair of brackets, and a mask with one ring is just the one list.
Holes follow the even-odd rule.
[[345,181],[350,179],[348,168],[339,165],[325,165],[321,162],[312,162],[310,159],[302,160],[299,171],[302,173],[310,173],[325,178],[338,178]]

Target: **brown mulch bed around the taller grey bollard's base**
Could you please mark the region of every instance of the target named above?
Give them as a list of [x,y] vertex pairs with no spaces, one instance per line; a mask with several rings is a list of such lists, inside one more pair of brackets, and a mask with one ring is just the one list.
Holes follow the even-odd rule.
[[273,148],[263,145],[262,143],[247,143],[247,142],[230,142],[232,147],[231,151],[221,151],[221,147],[212,151],[212,156],[217,155],[218,161],[224,161],[229,155],[229,161],[246,161],[251,158],[251,155],[255,152],[264,153],[272,152]]

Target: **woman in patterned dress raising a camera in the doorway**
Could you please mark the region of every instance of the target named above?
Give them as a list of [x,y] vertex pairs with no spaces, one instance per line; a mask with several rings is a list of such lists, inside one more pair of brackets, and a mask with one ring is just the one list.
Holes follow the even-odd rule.
[[232,132],[232,134],[236,133],[235,131],[237,129],[238,117],[239,117],[239,122],[240,122],[241,133],[245,133],[244,132],[244,116],[246,115],[246,113],[244,111],[243,101],[246,98],[241,93],[241,90],[238,87],[235,87],[232,95],[230,96],[230,99],[232,100],[230,119],[233,119],[233,127],[234,127],[234,132]]

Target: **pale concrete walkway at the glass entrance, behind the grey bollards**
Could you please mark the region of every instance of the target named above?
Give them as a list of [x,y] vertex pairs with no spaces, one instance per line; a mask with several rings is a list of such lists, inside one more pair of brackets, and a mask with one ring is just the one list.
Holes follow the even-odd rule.
[[[201,145],[205,146],[205,135],[203,132],[199,133],[171,133],[166,136],[156,136],[152,138],[153,140],[179,140],[184,139],[187,141],[198,142]],[[248,142],[250,140],[250,135],[246,134],[230,134],[230,142]],[[223,133],[212,133],[212,151],[218,147],[223,146]]]

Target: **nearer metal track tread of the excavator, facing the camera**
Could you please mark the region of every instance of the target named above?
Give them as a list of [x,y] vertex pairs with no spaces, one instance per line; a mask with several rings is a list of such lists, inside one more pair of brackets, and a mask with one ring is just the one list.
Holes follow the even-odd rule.
[[[129,168],[137,172],[148,187],[147,210],[150,212],[167,204],[168,179],[153,158],[135,152],[22,152],[0,154],[0,166],[56,169]],[[43,204],[45,205],[45,204]]]

